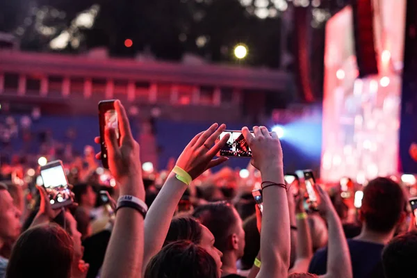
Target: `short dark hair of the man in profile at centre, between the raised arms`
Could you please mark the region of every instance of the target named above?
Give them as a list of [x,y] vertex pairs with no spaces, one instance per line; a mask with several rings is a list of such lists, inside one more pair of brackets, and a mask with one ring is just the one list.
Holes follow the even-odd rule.
[[193,216],[211,231],[215,238],[214,246],[220,252],[227,251],[227,238],[237,223],[233,206],[227,202],[205,204],[196,208]]

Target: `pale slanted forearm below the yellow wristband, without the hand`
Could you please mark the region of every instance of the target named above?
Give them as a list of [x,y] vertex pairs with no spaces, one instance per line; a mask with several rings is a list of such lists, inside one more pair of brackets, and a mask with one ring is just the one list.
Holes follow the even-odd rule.
[[170,229],[172,216],[186,189],[186,183],[179,181],[175,174],[171,173],[149,208],[145,219],[144,265],[147,265],[152,256],[161,250],[168,229]]

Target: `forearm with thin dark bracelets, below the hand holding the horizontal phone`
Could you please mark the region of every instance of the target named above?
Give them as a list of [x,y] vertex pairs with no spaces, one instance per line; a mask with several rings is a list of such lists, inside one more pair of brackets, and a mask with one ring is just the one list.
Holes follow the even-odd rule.
[[[263,181],[285,183],[282,167],[261,171]],[[261,277],[286,277],[290,261],[290,218],[286,190],[269,186],[263,191]]]

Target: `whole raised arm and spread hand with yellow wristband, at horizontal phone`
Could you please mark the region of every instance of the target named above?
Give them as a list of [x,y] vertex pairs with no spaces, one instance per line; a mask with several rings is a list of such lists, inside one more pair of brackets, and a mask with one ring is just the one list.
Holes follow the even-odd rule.
[[[212,160],[212,158],[227,142],[229,139],[228,136],[222,138],[222,140],[215,144],[211,149],[206,147],[213,146],[215,140],[220,136],[220,133],[222,133],[224,129],[226,129],[224,124],[221,126],[213,124],[203,133],[197,134],[183,150],[176,165],[188,172],[188,174],[195,179],[208,168],[220,165],[220,163],[227,161],[227,158],[225,157],[217,158],[215,160]],[[186,183],[179,181],[175,177],[175,174],[171,173],[167,181],[165,181],[161,192],[149,208],[145,220],[146,240],[143,259],[143,265],[145,265],[145,267],[152,257],[161,250],[168,230],[170,229],[172,216],[187,187]],[[145,268],[143,271],[145,271]]]

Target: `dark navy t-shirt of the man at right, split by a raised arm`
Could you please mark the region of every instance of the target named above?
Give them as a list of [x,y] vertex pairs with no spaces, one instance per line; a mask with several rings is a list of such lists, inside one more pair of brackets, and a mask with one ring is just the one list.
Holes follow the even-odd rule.
[[[384,278],[381,254],[384,245],[361,240],[347,240],[354,278]],[[309,273],[325,275],[327,271],[327,247],[314,254]]]

